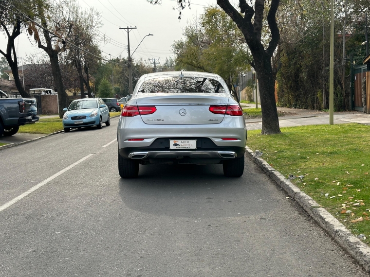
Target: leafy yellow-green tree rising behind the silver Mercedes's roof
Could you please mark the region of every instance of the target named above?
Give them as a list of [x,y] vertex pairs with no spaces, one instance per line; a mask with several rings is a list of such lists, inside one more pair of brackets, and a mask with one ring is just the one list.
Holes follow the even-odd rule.
[[251,56],[234,21],[217,7],[206,7],[184,29],[185,40],[175,41],[176,69],[220,75],[238,99],[234,89],[240,72],[250,69]]

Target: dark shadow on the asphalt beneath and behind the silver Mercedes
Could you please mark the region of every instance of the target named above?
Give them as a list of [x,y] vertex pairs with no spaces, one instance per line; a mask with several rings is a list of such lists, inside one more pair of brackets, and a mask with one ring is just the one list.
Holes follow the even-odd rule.
[[[223,176],[222,165],[148,165],[136,179],[119,179],[122,202],[133,210],[170,217],[234,217],[277,208],[263,199],[274,189],[261,188],[264,174],[251,176],[245,168],[240,178]],[[271,190],[273,189],[273,190]],[[276,191],[276,190],[275,190]],[[251,204],[248,210],[241,207]]]

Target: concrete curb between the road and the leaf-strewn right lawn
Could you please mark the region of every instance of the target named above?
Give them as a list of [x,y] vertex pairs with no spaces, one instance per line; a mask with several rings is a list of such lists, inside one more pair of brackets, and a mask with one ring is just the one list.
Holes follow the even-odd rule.
[[326,209],[321,208],[310,196],[302,192],[287,180],[281,173],[271,167],[260,157],[254,157],[254,152],[245,147],[249,156],[266,175],[274,180],[278,186],[284,189],[289,197],[293,198],[305,211],[320,225],[344,250],[347,251],[357,262],[370,273],[370,247],[361,242],[356,236],[346,229]]

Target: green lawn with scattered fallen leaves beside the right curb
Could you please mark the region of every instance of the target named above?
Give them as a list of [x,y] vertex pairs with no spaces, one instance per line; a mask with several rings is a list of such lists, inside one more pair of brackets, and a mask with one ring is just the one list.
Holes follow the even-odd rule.
[[370,242],[370,126],[309,125],[262,136],[248,131],[247,146],[326,208],[353,234]]

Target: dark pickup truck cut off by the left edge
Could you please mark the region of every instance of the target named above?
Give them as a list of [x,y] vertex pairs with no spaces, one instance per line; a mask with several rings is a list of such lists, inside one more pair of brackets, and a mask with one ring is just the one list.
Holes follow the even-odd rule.
[[39,118],[35,98],[8,98],[0,90],[0,136],[12,136],[20,125],[35,123]]

